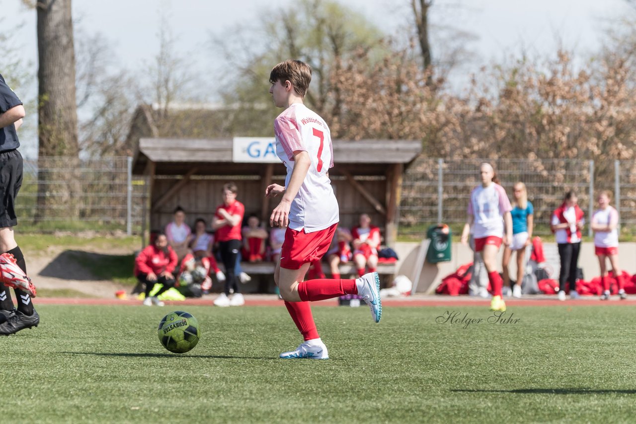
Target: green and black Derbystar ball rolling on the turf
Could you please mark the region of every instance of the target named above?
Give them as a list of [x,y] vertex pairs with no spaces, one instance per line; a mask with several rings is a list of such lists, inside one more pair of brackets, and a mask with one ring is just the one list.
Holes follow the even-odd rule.
[[197,346],[201,337],[197,318],[184,311],[170,312],[159,323],[159,341],[173,353],[185,353]]

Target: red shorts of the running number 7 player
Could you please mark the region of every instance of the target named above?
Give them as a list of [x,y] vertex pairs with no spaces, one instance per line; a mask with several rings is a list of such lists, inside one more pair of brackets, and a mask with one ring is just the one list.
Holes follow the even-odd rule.
[[288,227],[285,231],[285,241],[280,249],[281,268],[300,270],[303,264],[321,259],[329,250],[337,226],[336,223],[313,233],[305,233],[305,229],[296,231]]

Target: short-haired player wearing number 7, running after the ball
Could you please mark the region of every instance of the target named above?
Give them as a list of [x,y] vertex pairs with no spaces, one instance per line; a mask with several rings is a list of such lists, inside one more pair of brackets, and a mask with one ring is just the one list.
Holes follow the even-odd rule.
[[270,216],[272,227],[287,227],[276,264],[274,280],[294,324],[305,341],[284,359],[328,359],[327,346],[317,332],[311,301],[359,295],[371,308],[375,322],[382,317],[380,279],[372,272],[356,280],[303,281],[312,261],[329,249],[338,225],[338,202],[329,180],[333,167],[333,146],[329,127],[303,104],[312,69],[300,60],[286,60],[270,73],[270,94],[276,107],[285,109],[274,121],[276,154],[287,168],[285,186],[271,184],[265,196],[280,196]]

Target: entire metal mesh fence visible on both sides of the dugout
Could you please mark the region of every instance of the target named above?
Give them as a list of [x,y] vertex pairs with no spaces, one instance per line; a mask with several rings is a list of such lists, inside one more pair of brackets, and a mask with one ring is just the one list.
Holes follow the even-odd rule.
[[[632,174],[636,160],[617,160],[601,167],[594,161],[577,160],[429,158],[418,158],[404,174],[399,232],[421,237],[429,225],[437,222],[450,224],[455,233],[460,231],[484,161],[494,165],[509,196],[515,182],[525,183],[534,205],[534,232],[538,235],[549,233],[551,212],[568,189],[577,191],[588,221],[595,207],[590,202],[595,199],[595,189],[611,189],[615,197],[612,204],[621,215],[621,233],[636,233],[636,174]],[[142,177],[133,176],[131,170],[132,158],[128,157],[25,160],[16,207],[20,230],[141,232],[148,184]],[[45,175],[49,186],[42,191],[38,178]],[[69,196],[74,197],[71,203]],[[46,210],[40,209],[38,199],[42,197],[52,200]]]

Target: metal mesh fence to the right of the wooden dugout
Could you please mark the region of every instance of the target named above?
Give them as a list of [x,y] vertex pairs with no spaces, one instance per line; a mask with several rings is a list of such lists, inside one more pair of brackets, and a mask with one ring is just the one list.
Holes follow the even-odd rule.
[[[421,237],[429,225],[437,222],[450,224],[454,233],[461,231],[466,222],[471,190],[480,184],[479,167],[482,162],[494,165],[501,185],[511,198],[515,182],[525,183],[534,206],[534,232],[538,235],[550,232],[551,212],[560,205],[563,194],[569,189],[577,192],[579,206],[588,215],[588,221],[595,207],[590,200],[595,199],[596,186],[616,191],[621,222],[636,222],[636,177],[629,172],[633,162],[616,161],[615,169],[611,170],[614,171],[611,172],[612,177],[615,177],[612,180],[616,181],[609,181],[609,171],[604,169],[602,174],[595,172],[594,161],[420,158],[404,175],[400,233]],[[612,184],[614,182],[616,184]]]

